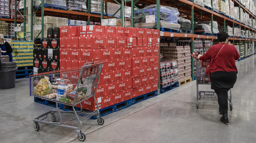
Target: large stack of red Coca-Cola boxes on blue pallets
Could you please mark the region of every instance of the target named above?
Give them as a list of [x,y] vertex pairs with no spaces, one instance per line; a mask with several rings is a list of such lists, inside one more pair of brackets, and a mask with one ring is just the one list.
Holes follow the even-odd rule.
[[[60,69],[106,61],[95,98],[101,109],[109,107],[158,90],[159,40],[156,29],[63,26],[59,39]],[[85,100],[82,107],[97,109],[93,98]]]

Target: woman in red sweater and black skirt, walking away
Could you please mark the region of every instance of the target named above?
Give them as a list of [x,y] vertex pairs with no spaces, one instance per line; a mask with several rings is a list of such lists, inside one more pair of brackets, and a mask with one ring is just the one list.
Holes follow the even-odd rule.
[[218,96],[219,112],[222,114],[221,121],[228,123],[227,110],[228,110],[228,90],[233,88],[238,73],[235,60],[240,58],[238,51],[235,46],[228,45],[228,34],[226,32],[218,33],[219,44],[212,45],[211,48],[202,56],[198,55],[199,60],[207,61],[211,60],[211,63],[215,56],[215,61],[211,64],[210,80],[211,89],[214,89]]

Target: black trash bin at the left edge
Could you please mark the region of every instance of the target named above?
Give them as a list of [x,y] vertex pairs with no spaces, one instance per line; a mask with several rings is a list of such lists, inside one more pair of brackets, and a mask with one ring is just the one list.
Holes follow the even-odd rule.
[[17,65],[15,62],[2,62],[2,69],[0,70],[0,88],[15,87],[15,75]]

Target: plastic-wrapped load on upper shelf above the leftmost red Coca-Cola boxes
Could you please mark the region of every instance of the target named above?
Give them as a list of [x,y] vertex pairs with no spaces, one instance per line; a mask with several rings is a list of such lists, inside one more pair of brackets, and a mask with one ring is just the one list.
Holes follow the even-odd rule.
[[69,10],[80,10],[84,12],[88,12],[86,3],[87,0],[66,0],[67,8]]

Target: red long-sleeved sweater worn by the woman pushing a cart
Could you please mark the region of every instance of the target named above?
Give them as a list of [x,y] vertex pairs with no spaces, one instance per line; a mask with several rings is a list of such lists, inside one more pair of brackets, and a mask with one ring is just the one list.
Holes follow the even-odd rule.
[[[220,51],[224,43],[212,45],[211,48],[203,55],[200,56],[200,60],[207,61],[209,59],[214,60],[215,56]],[[240,55],[235,46],[226,44],[215,61],[211,64],[211,73],[215,71],[237,71],[235,60],[238,60]],[[212,62],[212,61],[211,61]]]

